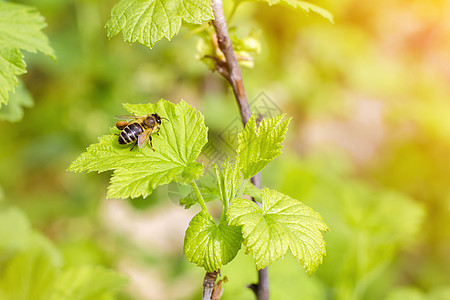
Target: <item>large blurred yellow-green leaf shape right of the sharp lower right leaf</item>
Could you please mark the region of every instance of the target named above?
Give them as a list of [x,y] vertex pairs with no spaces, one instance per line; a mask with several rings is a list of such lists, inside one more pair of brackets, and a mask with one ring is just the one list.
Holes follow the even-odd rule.
[[281,190],[320,210],[333,229],[317,275],[336,299],[362,299],[386,276],[399,250],[417,242],[424,209],[405,195],[350,179],[349,170],[333,167],[333,158],[327,156],[286,161]]

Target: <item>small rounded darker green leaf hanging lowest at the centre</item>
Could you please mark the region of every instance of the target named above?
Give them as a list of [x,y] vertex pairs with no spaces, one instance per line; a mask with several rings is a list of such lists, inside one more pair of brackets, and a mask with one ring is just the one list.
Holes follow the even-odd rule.
[[226,221],[217,226],[211,215],[202,211],[189,223],[183,250],[190,262],[212,272],[232,261],[241,244],[240,227],[229,226]]

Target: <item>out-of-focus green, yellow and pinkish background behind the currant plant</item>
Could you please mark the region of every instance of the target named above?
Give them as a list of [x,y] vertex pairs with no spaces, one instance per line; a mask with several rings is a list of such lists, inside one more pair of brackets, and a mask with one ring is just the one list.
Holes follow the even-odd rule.
[[[19,122],[0,121],[1,205],[25,211],[66,266],[125,274],[120,299],[198,299],[204,271],[182,253],[198,208],[168,197],[176,187],[105,200],[109,174],[66,169],[126,113],[124,102],[185,99],[217,140],[239,112],[226,82],[196,59],[199,37],[184,28],[150,50],[106,38],[115,1],[17,2],[46,18],[58,59],[26,54],[34,106]],[[335,24],[256,2],[230,23],[236,37],[261,43],[254,68],[243,70],[249,100],[264,92],[293,117],[263,185],[331,228],[311,278],[291,255],[271,266],[272,299],[450,299],[450,3],[317,4]],[[253,299],[245,284],[256,270],[243,250],[222,274],[223,299]]]

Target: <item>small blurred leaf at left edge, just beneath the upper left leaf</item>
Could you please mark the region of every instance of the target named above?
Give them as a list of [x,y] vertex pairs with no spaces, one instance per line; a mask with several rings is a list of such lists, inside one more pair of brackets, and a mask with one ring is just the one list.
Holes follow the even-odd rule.
[[21,80],[16,92],[10,96],[8,103],[0,107],[0,120],[17,122],[23,118],[23,108],[33,106],[33,98]]

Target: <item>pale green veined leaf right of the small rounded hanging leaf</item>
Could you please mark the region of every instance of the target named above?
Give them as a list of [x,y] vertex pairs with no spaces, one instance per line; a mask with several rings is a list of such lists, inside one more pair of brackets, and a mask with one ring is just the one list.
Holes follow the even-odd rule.
[[288,248],[309,275],[322,263],[328,230],[319,213],[300,201],[267,188],[261,191],[262,211],[252,201],[235,199],[228,209],[230,225],[241,225],[244,244],[263,269],[282,258]]

